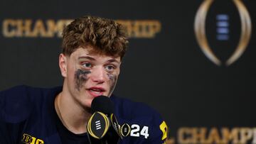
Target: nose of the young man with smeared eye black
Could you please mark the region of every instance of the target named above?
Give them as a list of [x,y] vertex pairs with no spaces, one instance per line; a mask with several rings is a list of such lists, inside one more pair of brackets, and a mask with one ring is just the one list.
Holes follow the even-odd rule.
[[105,82],[105,71],[103,67],[94,67],[91,74],[92,82],[102,84]]

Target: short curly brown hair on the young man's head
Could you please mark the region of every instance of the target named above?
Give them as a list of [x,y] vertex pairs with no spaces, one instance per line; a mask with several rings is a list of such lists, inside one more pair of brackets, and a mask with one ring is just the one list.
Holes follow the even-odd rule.
[[127,50],[126,35],[121,24],[113,20],[83,16],[64,28],[62,52],[70,56],[76,49],[91,45],[95,52],[122,59]]

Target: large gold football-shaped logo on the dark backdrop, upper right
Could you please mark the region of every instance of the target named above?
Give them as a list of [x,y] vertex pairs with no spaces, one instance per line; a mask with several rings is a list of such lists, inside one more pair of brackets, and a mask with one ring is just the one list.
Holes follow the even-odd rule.
[[[206,55],[206,57],[208,57],[210,61],[215,63],[215,65],[222,65],[223,63],[225,63],[225,65],[228,66],[233,64],[233,62],[235,62],[236,60],[238,60],[238,58],[245,51],[250,41],[250,35],[252,31],[250,15],[245,5],[242,4],[242,1],[233,0],[233,3],[235,4],[235,7],[238,9],[238,13],[240,15],[240,22],[241,22],[240,23],[240,26],[241,26],[240,40],[233,54],[227,60],[225,60],[225,62],[221,62],[220,58],[218,58],[213,52],[212,48],[210,48],[210,45],[208,43],[207,36],[206,36],[206,16],[207,16],[208,10],[210,9],[210,6],[213,4],[213,1],[215,0],[204,0],[201,6],[199,7],[196,13],[194,31],[196,33],[196,39],[197,39],[198,45],[200,46],[201,50]],[[223,28],[220,30],[223,30]],[[225,33],[226,31],[220,31],[220,32]]]

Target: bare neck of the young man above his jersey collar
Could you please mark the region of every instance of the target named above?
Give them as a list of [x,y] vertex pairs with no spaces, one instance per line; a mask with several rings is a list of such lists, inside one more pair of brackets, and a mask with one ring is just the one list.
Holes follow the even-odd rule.
[[91,113],[83,109],[74,99],[60,92],[55,98],[55,111],[63,125],[72,133],[86,133],[86,125]]

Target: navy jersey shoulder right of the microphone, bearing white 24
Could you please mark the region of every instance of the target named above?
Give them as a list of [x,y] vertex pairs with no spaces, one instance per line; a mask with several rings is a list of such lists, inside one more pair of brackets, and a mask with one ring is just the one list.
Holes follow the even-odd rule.
[[[127,143],[164,143],[167,126],[161,114],[140,102],[111,96],[115,106],[115,114],[121,126],[130,128],[124,141]],[[122,132],[123,133],[123,132]]]

